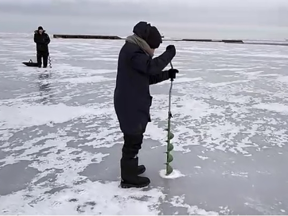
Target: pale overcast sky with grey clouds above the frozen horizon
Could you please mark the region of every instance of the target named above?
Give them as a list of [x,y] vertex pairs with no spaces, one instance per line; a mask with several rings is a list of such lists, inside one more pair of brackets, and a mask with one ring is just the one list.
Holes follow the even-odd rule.
[[167,37],[288,38],[288,0],[0,0],[0,32],[127,36],[139,21]]

